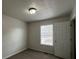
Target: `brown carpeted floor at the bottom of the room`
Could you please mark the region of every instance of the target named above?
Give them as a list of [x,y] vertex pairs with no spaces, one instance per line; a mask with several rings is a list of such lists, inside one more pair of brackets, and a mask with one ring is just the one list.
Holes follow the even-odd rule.
[[55,57],[51,54],[35,50],[26,50],[7,59],[60,59],[60,58]]

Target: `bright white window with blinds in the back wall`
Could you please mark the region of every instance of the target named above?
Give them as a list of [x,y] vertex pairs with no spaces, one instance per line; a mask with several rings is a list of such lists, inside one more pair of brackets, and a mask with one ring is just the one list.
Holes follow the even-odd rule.
[[41,30],[41,45],[53,46],[53,25],[42,25]]

